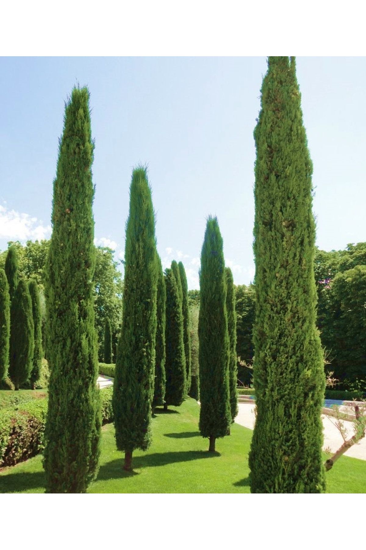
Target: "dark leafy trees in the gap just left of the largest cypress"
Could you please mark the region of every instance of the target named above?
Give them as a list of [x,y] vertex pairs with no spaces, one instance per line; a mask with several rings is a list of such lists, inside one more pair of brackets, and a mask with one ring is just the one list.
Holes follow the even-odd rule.
[[[237,357],[251,365],[254,357],[253,323],[255,319],[255,287],[250,284],[237,286],[235,311],[237,313]],[[238,383],[248,386],[252,383],[250,368],[238,364]],[[240,385],[240,384],[239,384]]]

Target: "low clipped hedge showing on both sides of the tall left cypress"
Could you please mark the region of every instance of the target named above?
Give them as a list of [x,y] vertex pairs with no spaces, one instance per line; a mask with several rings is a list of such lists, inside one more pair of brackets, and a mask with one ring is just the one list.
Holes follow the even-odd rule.
[[[112,390],[112,386],[100,390],[103,424],[113,420]],[[18,403],[12,403],[8,399],[7,408],[0,410],[0,467],[13,466],[42,452],[48,397],[37,399],[37,393],[21,392],[16,396]],[[38,393],[38,397],[39,395]],[[2,399],[4,400],[3,396]],[[31,400],[20,403],[23,399]]]

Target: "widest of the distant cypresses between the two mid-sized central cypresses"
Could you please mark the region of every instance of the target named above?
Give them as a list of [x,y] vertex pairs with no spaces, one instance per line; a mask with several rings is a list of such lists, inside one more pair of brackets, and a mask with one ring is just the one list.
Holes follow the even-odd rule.
[[[177,262],[176,262],[177,263]],[[173,262],[172,262],[173,266]],[[165,404],[182,405],[185,396],[185,354],[181,294],[173,268],[165,271],[166,326],[165,326]]]

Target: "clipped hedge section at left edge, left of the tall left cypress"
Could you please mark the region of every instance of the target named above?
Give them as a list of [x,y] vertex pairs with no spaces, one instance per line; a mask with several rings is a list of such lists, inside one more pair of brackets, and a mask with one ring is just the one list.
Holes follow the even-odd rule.
[[33,399],[0,410],[0,467],[42,451],[47,399]]

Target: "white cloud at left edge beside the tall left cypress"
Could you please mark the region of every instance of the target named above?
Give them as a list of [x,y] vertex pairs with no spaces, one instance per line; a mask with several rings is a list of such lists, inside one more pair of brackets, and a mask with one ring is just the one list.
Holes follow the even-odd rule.
[[29,214],[8,210],[0,205],[0,239],[42,240],[49,237],[52,227]]

